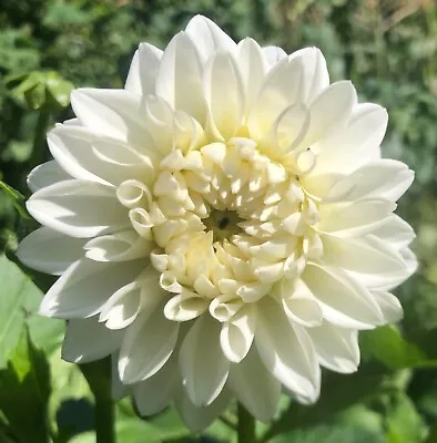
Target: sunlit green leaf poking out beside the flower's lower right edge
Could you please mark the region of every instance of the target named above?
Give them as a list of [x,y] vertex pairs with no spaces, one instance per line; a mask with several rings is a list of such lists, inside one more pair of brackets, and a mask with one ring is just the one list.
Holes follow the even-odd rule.
[[436,360],[428,357],[414,343],[405,340],[393,326],[376,328],[360,334],[364,360],[375,358],[392,370],[435,367]]

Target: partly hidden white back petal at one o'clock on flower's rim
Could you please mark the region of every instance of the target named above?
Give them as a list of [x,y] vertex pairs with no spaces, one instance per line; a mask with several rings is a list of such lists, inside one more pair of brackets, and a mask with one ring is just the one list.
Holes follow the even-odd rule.
[[301,90],[303,103],[312,103],[323,90],[329,86],[326,60],[317,48],[304,48],[289,55],[289,60],[302,58],[304,76]]

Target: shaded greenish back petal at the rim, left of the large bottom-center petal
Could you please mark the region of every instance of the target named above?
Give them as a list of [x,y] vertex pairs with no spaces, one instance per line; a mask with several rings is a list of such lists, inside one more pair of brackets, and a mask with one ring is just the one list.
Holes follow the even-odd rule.
[[177,387],[175,360],[172,357],[156,374],[133,385],[133,398],[141,415],[156,414],[173,400]]

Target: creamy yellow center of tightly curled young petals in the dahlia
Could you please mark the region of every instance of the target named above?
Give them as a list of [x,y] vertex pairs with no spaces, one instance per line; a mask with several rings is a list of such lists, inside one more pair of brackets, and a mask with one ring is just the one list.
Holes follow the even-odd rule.
[[155,243],[152,265],[179,302],[204,300],[190,306],[211,305],[225,321],[223,312],[231,316],[282,279],[295,279],[321,254],[317,204],[295,172],[253,140],[176,148],[155,168],[152,184],[124,182],[118,195],[134,229]]

